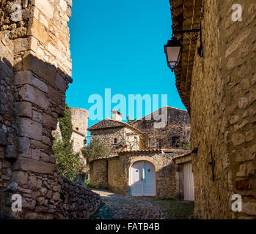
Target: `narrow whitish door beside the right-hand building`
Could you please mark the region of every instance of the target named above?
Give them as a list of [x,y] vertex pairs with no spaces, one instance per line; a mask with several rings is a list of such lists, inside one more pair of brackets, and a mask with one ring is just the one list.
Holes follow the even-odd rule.
[[194,176],[192,173],[192,163],[187,162],[183,165],[184,179],[184,200],[194,200]]

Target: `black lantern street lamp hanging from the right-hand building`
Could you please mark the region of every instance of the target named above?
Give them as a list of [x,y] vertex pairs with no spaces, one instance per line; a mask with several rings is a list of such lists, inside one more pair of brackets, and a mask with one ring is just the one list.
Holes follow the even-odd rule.
[[173,70],[178,66],[181,56],[180,41],[176,37],[172,37],[172,40],[167,42],[167,45],[164,45],[164,53],[167,56],[167,65],[170,69]]

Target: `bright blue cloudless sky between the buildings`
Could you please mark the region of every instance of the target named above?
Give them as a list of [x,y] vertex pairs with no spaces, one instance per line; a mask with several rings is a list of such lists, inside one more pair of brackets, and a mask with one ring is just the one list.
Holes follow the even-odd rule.
[[[111,88],[112,96],[127,100],[128,94],[168,94],[169,106],[186,110],[164,54],[172,36],[168,0],[73,1],[72,12],[67,105],[89,110],[89,96],[104,99],[105,88]],[[89,120],[89,126],[96,122]]]

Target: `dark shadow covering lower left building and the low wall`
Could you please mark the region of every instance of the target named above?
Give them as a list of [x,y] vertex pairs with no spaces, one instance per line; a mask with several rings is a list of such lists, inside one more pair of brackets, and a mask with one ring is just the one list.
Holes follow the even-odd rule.
[[[63,181],[52,149],[51,132],[64,116],[72,79],[30,53],[14,67],[0,56],[0,210],[15,219],[87,219],[99,197]],[[13,194],[22,197],[21,212],[11,211]]]

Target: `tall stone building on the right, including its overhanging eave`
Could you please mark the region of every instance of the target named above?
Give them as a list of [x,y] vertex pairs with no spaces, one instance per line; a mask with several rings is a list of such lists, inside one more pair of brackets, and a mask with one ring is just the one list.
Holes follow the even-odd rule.
[[[191,116],[194,216],[256,217],[256,4],[248,1],[172,0],[172,29],[200,29],[180,37],[176,86]],[[233,20],[240,4],[242,17]],[[238,10],[238,9],[236,9]],[[174,36],[178,36],[175,34]],[[241,195],[242,211],[232,210]]]

